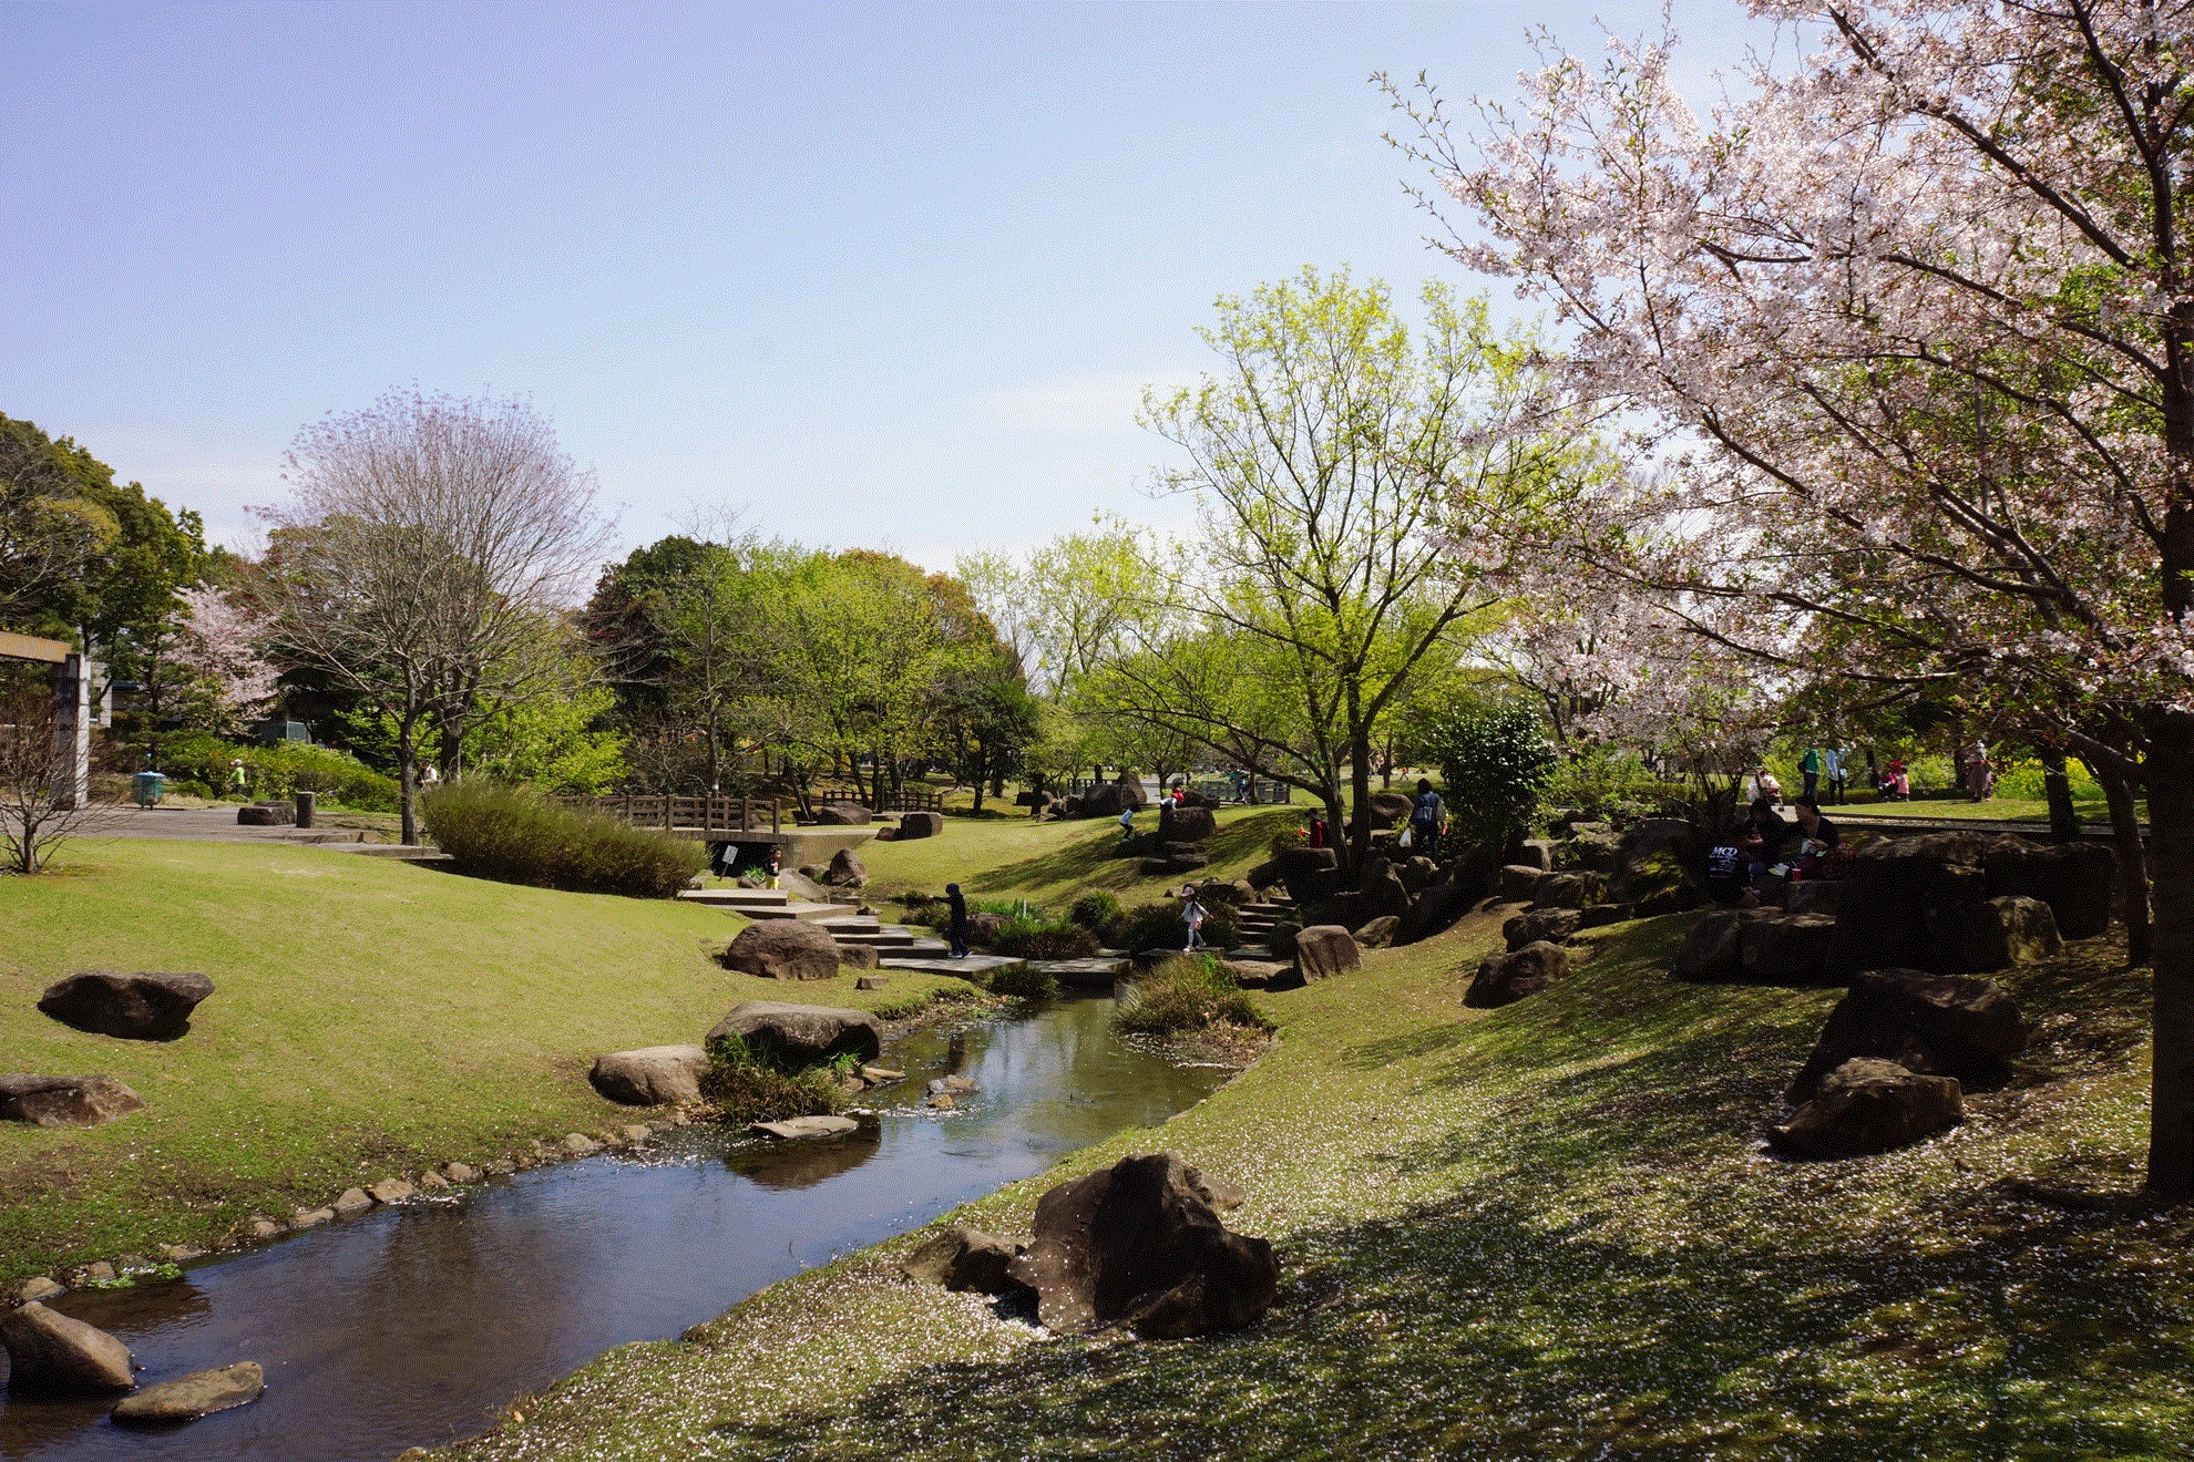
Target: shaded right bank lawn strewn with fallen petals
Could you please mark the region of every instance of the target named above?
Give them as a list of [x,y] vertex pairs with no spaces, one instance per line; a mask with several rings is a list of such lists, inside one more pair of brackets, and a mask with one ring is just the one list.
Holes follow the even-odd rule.
[[1832,991],[1696,989],[1681,916],[1599,932],[1505,1010],[1461,989],[1477,921],[1266,995],[1283,1043],[1163,1131],[961,1214],[1167,1149],[1237,1179],[1275,1311],[1233,1337],[1047,1341],[891,1278],[919,1236],[627,1346],[494,1458],[2183,1458],[2194,1219],[2130,1195],[2144,980],[2080,947],[2012,978],[2043,1035],[1955,1133],[1858,1162],[1762,1155]]

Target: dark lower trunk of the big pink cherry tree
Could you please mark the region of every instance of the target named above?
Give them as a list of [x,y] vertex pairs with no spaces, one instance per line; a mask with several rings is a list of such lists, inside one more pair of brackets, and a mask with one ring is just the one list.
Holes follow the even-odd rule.
[[2194,1199],[2194,715],[2155,708],[2144,721],[2157,883],[2148,1190],[2185,1203]]

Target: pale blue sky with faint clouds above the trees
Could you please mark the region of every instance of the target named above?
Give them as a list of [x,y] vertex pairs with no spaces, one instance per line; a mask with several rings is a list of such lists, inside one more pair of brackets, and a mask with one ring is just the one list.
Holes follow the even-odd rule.
[[[1220,294],[1424,245],[1367,81],[1514,94],[1656,4],[0,0],[0,412],[250,541],[301,425],[529,395],[619,537],[950,568],[1141,484]],[[1674,7],[1696,77],[1749,31]]]

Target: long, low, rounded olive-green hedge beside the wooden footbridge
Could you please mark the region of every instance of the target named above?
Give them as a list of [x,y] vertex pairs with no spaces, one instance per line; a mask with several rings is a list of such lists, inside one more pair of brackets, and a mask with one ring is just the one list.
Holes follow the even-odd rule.
[[669,899],[706,861],[698,842],[555,807],[538,791],[485,778],[439,787],[419,811],[459,870],[505,883]]

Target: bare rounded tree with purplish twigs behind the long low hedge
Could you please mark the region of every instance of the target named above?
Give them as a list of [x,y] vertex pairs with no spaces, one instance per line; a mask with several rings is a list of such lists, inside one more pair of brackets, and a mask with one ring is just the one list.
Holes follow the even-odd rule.
[[592,473],[524,401],[417,390],[305,427],[283,467],[252,594],[279,651],[395,721],[417,842],[421,728],[450,750],[564,684],[542,631],[599,561]]

